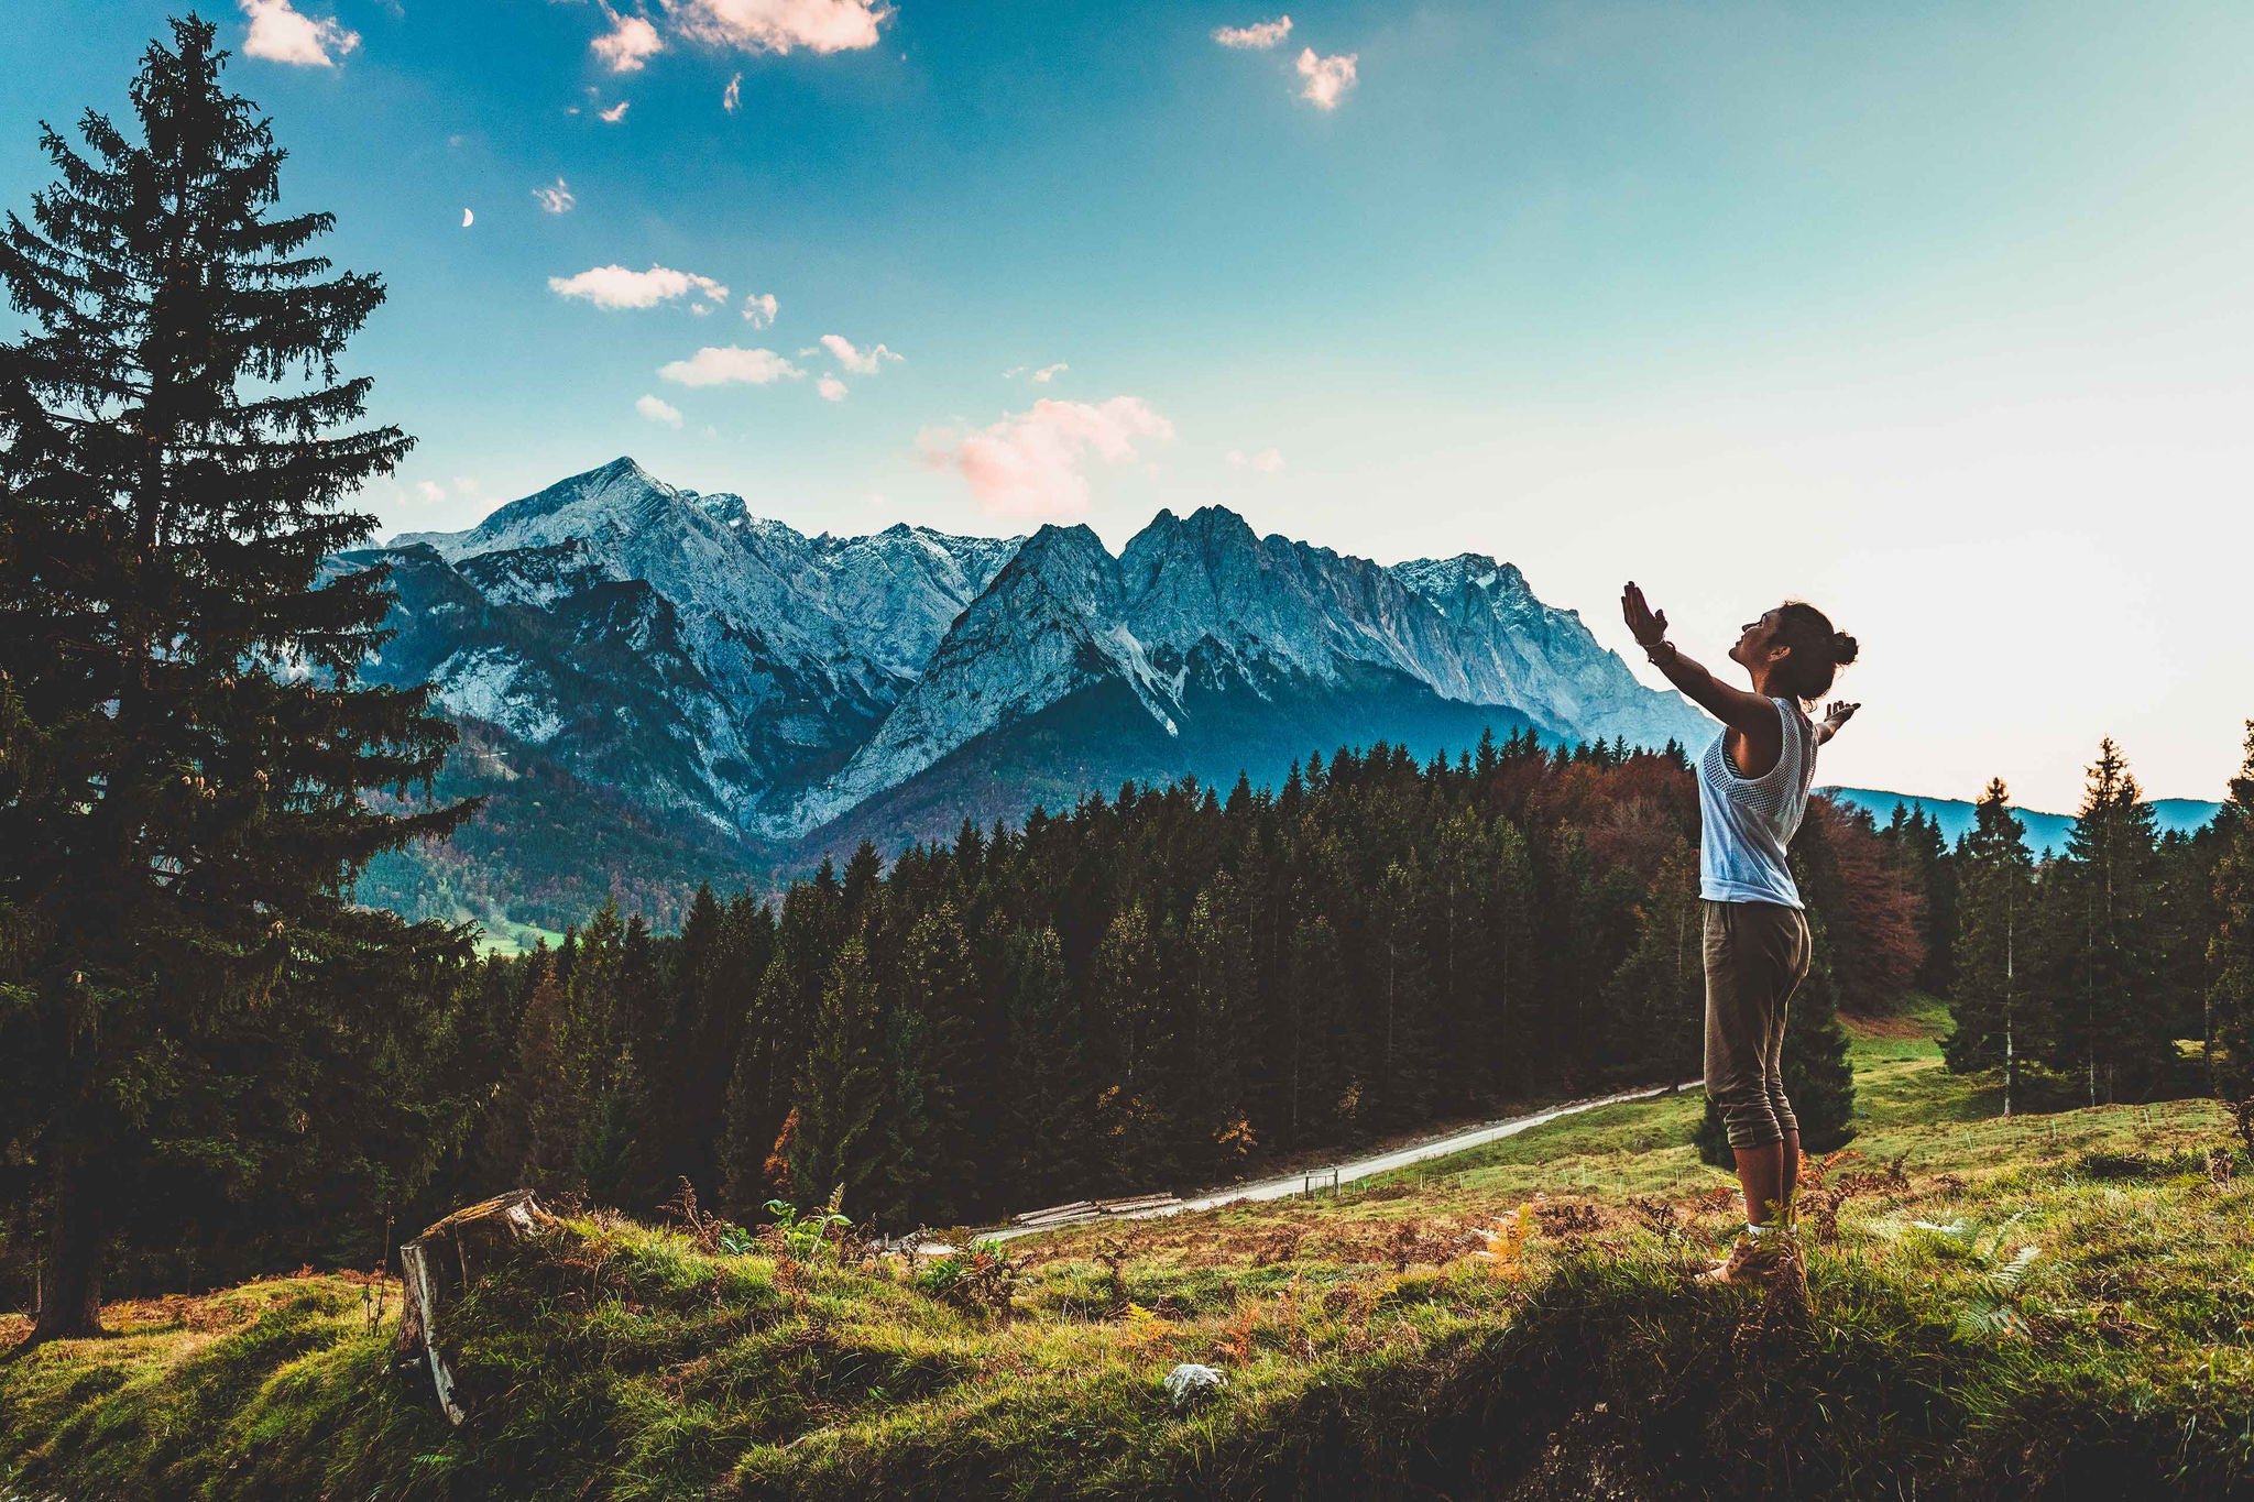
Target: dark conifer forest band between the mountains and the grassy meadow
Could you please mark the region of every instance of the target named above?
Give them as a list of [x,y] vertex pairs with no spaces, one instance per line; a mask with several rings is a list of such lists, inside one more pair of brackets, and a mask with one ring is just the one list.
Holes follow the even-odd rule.
[[[1839,1009],[1956,995],[1986,1025],[1995,903],[2022,1101],[2200,1088],[2229,826],[2157,835],[2107,741],[2069,849],[2035,862],[1997,784],[1934,820],[1814,799],[1794,867],[1817,966],[1787,1072],[1810,1146],[1851,1133]],[[1999,856],[1993,831],[2013,835]],[[1990,874],[2024,876],[2024,892]],[[2033,1000],[2040,998],[2040,1000]],[[951,1225],[1226,1180],[1278,1155],[1623,1083],[1695,1079],[1697,804],[1677,748],[1341,748],[1276,790],[1125,786],[884,869],[861,847],[780,905],[701,892],[678,937],[613,908],[482,966],[516,1038],[467,1169],[647,1207],[681,1178]]]

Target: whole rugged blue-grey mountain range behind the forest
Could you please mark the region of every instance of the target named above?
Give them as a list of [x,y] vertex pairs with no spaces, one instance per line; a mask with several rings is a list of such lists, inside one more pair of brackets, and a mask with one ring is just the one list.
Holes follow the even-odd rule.
[[[372,563],[390,563],[397,606],[365,673],[437,685],[476,732],[442,793],[489,806],[469,856],[392,858],[363,894],[453,917],[494,919],[503,898],[516,919],[584,912],[570,903],[586,885],[600,901],[604,874],[564,878],[568,847],[615,860],[629,826],[674,851],[656,885],[757,878],[1127,779],[1276,781],[1337,745],[1713,732],[1510,563],[1382,565],[1258,536],[1224,507],[1159,511],[1116,556],[1057,525],[805,536],[615,459],[334,567]],[[554,867],[557,901],[523,880],[534,865]]]

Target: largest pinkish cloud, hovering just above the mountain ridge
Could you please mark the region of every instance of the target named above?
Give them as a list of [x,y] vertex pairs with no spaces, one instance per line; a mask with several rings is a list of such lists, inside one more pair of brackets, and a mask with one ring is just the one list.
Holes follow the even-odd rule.
[[1026,412],[976,432],[933,428],[917,446],[933,468],[958,468],[971,495],[994,516],[1059,518],[1089,509],[1082,464],[1134,457],[1136,439],[1172,439],[1174,423],[1141,396],[1104,403],[1044,396]]

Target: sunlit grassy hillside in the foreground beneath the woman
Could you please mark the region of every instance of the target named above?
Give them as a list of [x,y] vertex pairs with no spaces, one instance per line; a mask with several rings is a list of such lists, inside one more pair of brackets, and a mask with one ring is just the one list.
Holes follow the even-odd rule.
[[[117,1306],[119,1338],[0,1365],[0,1495],[2245,1493],[2234,1126],[1997,1119],[1936,1020],[1860,1029],[1812,1322],[1684,1281],[1736,1221],[1693,1094],[1003,1268],[566,1218],[455,1306],[462,1430],[390,1367],[394,1288],[381,1320],[345,1277]],[[1174,1412],[1181,1360],[1226,1389]]]

